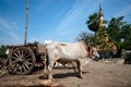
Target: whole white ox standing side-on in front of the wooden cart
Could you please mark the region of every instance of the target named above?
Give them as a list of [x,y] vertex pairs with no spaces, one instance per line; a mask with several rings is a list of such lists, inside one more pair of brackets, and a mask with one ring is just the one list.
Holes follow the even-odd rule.
[[82,77],[82,67],[88,63],[91,55],[99,57],[97,50],[87,49],[83,41],[78,44],[51,42],[47,45],[46,49],[49,60],[48,79],[53,79],[51,71],[57,61],[62,63],[76,62],[79,76]]

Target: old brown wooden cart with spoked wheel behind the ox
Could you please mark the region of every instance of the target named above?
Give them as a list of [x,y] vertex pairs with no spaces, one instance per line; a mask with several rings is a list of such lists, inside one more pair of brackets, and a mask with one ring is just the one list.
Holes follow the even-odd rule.
[[45,59],[45,45],[38,42],[10,46],[5,66],[12,74],[29,74]]

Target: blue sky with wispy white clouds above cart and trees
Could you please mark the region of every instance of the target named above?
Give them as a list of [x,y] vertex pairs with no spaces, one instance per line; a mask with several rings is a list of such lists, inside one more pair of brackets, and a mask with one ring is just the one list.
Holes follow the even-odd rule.
[[[74,42],[81,32],[92,33],[85,22],[99,2],[105,20],[123,15],[131,23],[131,0],[29,0],[27,42]],[[25,7],[26,0],[0,0],[0,45],[24,44]]]

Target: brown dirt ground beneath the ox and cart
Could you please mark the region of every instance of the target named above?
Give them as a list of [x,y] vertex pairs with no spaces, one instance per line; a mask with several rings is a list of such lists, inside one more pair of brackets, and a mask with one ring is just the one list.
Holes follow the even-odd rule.
[[[52,70],[56,78],[53,83],[63,85],[59,87],[131,87],[131,65],[122,62],[121,59],[91,61],[83,69],[84,78],[79,78],[73,69],[56,67]],[[0,77],[0,87],[17,87],[21,84],[39,84],[45,80],[43,70],[31,75],[5,74]]]

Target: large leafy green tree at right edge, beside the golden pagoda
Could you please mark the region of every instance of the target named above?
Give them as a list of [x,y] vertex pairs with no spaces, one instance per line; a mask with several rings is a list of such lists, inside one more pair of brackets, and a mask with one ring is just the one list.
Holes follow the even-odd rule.
[[123,16],[112,17],[107,26],[107,34],[119,49],[131,49],[131,24],[123,21]]

